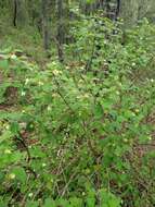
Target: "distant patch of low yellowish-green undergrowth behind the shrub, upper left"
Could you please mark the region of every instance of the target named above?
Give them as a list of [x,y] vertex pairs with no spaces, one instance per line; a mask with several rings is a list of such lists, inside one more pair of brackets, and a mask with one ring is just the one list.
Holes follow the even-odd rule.
[[[13,27],[11,21],[0,16],[0,48],[3,51],[22,50],[26,56],[42,63],[46,61],[42,36],[34,26]],[[8,17],[10,20],[10,17]],[[52,48],[51,48],[52,50]],[[54,51],[51,51],[54,52]]]

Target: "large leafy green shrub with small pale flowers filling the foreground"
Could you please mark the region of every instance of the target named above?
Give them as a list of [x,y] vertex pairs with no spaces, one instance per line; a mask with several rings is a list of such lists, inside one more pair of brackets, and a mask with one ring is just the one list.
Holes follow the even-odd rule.
[[155,28],[81,24],[63,64],[0,56],[1,207],[155,205]]

